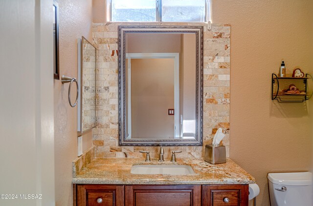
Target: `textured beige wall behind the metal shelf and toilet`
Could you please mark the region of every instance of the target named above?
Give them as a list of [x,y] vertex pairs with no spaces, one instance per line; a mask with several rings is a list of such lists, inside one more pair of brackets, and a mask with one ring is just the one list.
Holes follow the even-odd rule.
[[[282,59],[313,72],[312,0],[213,0],[213,22],[231,25],[230,158],[252,174],[269,206],[268,172],[311,164],[312,100],[270,100],[271,73]],[[311,105],[311,106],[309,106]]]

